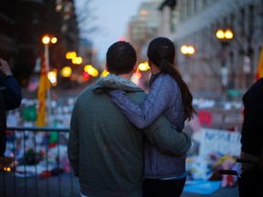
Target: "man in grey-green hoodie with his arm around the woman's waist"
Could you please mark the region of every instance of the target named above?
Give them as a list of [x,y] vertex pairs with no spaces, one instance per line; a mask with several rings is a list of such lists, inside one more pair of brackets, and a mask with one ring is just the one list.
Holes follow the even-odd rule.
[[139,130],[111,102],[105,83],[125,90],[138,104],[145,99],[142,88],[130,80],[137,69],[136,58],[130,43],[111,45],[106,57],[110,75],[84,89],[76,100],[68,159],[79,177],[82,196],[141,197],[144,138],[169,154],[183,154],[191,146],[189,136],[177,132],[163,116]]

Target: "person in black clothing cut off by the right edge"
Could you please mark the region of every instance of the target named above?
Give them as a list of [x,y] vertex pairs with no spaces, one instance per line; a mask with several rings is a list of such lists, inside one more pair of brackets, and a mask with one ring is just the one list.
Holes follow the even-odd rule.
[[263,196],[263,78],[258,79],[243,96],[244,122],[241,131],[242,163],[240,196]]

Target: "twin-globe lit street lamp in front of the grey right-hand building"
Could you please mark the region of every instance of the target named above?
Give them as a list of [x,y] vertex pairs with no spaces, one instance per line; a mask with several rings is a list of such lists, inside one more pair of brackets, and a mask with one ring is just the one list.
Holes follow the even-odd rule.
[[226,86],[227,86],[227,75],[228,69],[226,67],[226,47],[229,45],[230,40],[233,38],[234,34],[230,29],[218,29],[216,31],[216,38],[221,42],[221,84],[222,84],[222,91],[226,93]]

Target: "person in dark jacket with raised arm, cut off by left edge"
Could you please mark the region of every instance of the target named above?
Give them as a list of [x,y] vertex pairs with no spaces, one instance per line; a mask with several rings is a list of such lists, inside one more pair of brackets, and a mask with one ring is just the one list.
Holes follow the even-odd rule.
[[0,58],[0,157],[5,153],[6,111],[20,106],[22,94],[7,62]]

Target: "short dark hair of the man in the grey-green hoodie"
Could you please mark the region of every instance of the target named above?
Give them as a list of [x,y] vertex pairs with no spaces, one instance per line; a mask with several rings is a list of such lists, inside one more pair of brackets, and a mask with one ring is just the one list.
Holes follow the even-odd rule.
[[137,61],[135,49],[129,42],[118,41],[109,47],[106,61],[111,74],[130,73]]

